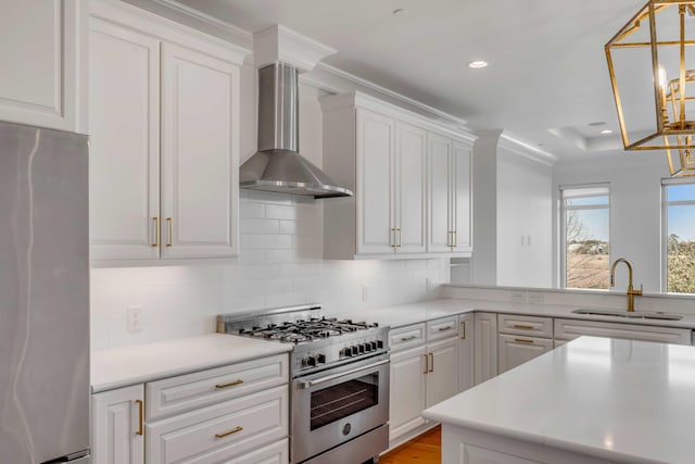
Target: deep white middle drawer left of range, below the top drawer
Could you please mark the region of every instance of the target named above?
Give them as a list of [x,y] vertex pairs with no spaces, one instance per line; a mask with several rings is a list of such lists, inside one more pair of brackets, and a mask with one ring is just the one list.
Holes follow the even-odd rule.
[[146,426],[147,455],[161,464],[212,464],[285,439],[288,397],[287,386],[276,387],[150,423]]

